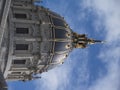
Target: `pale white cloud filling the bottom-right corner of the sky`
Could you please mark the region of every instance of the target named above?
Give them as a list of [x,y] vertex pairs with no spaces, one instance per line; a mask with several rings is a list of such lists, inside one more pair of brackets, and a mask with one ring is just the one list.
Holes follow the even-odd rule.
[[102,52],[100,57],[106,63],[108,73],[101,76],[89,90],[119,90],[120,89],[120,48],[111,48]]

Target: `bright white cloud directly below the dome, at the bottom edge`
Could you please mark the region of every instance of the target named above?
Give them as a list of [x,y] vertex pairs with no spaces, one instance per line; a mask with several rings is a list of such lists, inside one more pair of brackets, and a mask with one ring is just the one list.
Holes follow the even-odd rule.
[[[79,52],[79,54],[75,51],[72,54],[72,57],[79,57],[77,55],[84,54],[85,57],[80,57],[79,59],[87,58],[86,52]],[[81,83],[89,78],[89,74],[87,73],[87,59],[84,61],[74,61],[77,58],[68,57],[66,63],[61,65],[58,68],[54,68],[53,70],[48,71],[47,73],[42,74],[42,78],[37,80],[34,84],[36,85],[36,90],[65,90],[65,88],[69,90],[79,90],[79,88],[83,88],[83,85],[77,85],[77,87],[72,86],[73,79],[75,79],[75,83]],[[80,63],[79,68],[76,68],[76,65]],[[74,72],[74,73],[73,73]],[[74,77],[73,74],[78,74],[78,76]],[[77,79],[78,78],[78,79]],[[79,87],[78,87],[79,86]],[[85,89],[83,89],[85,90]]]

